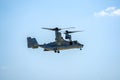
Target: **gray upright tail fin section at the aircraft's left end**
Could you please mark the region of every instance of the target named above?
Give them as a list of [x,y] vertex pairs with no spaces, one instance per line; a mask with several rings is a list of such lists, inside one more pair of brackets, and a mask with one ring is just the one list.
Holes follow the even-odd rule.
[[27,37],[28,48],[38,48],[39,44],[35,38]]

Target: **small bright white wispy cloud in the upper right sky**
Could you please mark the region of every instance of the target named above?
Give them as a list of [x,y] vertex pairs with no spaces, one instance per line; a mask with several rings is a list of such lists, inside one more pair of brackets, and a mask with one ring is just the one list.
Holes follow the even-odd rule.
[[95,16],[120,16],[120,8],[108,7],[100,12],[95,12]]

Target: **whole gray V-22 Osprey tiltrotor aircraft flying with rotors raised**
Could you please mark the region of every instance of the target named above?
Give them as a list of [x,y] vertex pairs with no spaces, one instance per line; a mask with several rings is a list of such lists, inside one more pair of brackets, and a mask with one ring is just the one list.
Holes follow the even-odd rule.
[[[71,27],[72,28],[72,27]],[[38,44],[36,38],[27,37],[28,48],[36,49],[38,47],[44,48],[44,51],[54,51],[55,53],[60,53],[60,50],[79,48],[82,50],[83,44],[79,43],[77,40],[72,40],[71,33],[81,32],[81,31],[68,31],[64,32],[65,39],[62,37],[60,30],[68,28],[42,28],[55,32],[55,41],[46,44]]]

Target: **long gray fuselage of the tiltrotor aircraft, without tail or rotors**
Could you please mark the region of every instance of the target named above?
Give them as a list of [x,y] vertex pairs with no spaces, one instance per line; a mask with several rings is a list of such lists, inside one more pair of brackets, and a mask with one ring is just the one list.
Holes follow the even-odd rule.
[[66,49],[73,49],[73,48],[80,48],[82,49],[83,44],[78,43],[77,41],[62,41],[61,43],[58,42],[51,42],[48,44],[40,45],[40,47],[44,48],[44,51],[55,51],[55,50],[66,50]]

